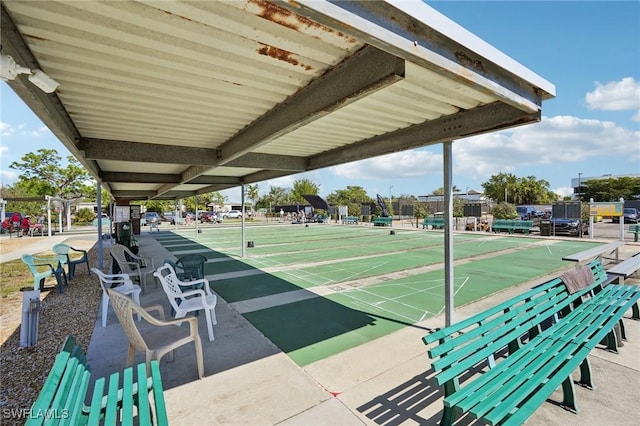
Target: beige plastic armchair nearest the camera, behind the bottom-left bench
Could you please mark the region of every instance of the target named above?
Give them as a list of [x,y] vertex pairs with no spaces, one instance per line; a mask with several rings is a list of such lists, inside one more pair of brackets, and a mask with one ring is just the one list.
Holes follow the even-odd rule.
[[[198,334],[198,319],[194,317],[182,318],[179,320],[164,320],[164,310],[160,305],[142,307],[124,294],[107,289],[107,294],[111,299],[113,310],[122,325],[124,333],[129,338],[129,351],[127,353],[127,366],[133,364],[136,350],[144,352],[147,364],[147,374],[150,373],[150,362],[153,359],[160,359],[167,353],[173,351],[187,343],[193,342],[196,352],[196,363],[198,366],[198,377],[204,376],[204,360],[202,356],[202,341]],[[160,319],[155,318],[149,312],[157,311]],[[133,321],[133,314],[142,315],[142,318],[152,327],[138,328]],[[188,328],[181,327],[182,323],[187,323]]]

